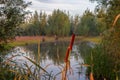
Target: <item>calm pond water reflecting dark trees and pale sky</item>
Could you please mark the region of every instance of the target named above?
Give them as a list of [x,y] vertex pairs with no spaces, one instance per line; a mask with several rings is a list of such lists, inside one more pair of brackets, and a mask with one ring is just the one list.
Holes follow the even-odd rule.
[[[65,66],[65,56],[68,47],[68,42],[51,42],[41,43],[38,49],[38,44],[27,44],[26,46],[17,46],[12,49],[7,55],[7,58],[18,55],[12,58],[18,65],[24,67],[23,64],[33,65],[24,56],[38,62],[47,72],[56,75],[61,72]],[[87,67],[83,66],[84,56],[89,52],[89,48],[93,47],[91,42],[75,43],[70,52],[70,70],[67,72],[68,80],[88,80],[86,73]],[[87,52],[87,53],[86,53]],[[40,56],[40,57],[39,57]],[[62,73],[58,74],[55,80],[62,80]],[[41,77],[41,80],[42,79]]]

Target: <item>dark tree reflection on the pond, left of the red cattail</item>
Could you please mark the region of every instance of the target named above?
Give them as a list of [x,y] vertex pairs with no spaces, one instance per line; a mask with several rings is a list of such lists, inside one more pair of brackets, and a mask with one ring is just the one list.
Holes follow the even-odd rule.
[[[61,43],[43,43],[40,44],[40,61],[44,62],[45,60],[49,59],[53,61],[54,65],[59,65],[64,63],[65,52],[67,49],[68,43],[61,42]],[[27,45],[26,48],[34,52],[34,59],[37,60],[38,56],[38,48],[37,44]]]

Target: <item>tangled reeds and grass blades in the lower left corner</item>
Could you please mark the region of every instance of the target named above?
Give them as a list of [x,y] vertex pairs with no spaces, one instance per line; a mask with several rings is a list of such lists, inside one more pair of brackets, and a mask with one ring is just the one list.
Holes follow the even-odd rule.
[[52,73],[48,73],[45,68],[42,68],[30,58],[25,57],[33,63],[31,66],[28,63],[17,64],[12,60],[16,56],[19,55],[14,55],[7,59],[3,56],[0,57],[0,80],[52,80],[55,78]]

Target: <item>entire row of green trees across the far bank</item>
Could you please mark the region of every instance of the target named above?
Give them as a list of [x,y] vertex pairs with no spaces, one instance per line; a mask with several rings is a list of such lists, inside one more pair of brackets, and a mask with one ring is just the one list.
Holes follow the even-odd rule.
[[27,16],[25,23],[19,28],[19,36],[57,35],[70,36],[75,33],[79,36],[98,36],[106,29],[104,11],[98,14],[86,10],[82,16],[70,16],[69,12],[54,10],[52,14],[45,12]]

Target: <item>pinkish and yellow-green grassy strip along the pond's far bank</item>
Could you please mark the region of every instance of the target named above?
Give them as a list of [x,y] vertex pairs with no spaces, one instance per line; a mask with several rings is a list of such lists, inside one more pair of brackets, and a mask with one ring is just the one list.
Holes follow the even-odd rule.
[[[44,42],[54,42],[55,37],[44,37]],[[70,41],[71,37],[59,37],[58,41]],[[38,42],[43,43],[42,36],[23,36],[23,37],[16,37],[15,40],[9,43],[11,46],[21,46],[26,44],[33,44]],[[81,37],[76,36],[75,42],[81,42],[81,41],[91,41],[94,43],[100,43],[101,37]]]

